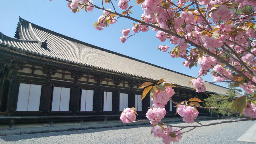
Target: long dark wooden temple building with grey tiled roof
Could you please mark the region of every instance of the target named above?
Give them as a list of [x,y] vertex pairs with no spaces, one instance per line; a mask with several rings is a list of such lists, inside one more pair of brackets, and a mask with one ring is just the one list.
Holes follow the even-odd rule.
[[[176,102],[197,97],[190,76],[53,32],[22,18],[15,37],[0,33],[0,122],[119,118],[124,108],[145,115],[152,105],[143,89],[166,78]],[[207,94],[227,88],[206,83]],[[174,115],[172,102],[166,105]]]

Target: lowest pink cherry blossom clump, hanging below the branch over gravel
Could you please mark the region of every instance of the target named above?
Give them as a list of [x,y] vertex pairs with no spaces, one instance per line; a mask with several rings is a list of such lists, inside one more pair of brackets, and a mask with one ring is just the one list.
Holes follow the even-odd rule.
[[[175,133],[175,136],[172,136],[171,133]],[[161,127],[159,125],[152,127],[152,134],[154,134],[154,137],[162,137],[162,141],[165,144],[169,144],[172,141],[178,142],[182,138],[182,134],[180,133],[181,131],[179,129],[172,130],[172,127],[170,126],[167,128]]]

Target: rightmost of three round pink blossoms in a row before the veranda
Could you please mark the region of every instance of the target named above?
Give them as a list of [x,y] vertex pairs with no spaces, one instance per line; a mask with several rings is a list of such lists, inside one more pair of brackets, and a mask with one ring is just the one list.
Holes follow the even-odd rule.
[[195,111],[194,107],[184,106],[179,104],[177,107],[177,113],[182,117],[183,121],[188,124],[194,123],[198,116],[198,111]]

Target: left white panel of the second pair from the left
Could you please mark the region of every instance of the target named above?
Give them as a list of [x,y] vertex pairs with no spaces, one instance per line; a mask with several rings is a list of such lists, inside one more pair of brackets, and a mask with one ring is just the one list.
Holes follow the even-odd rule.
[[61,87],[53,87],[51,111],[59,111],[60,98],[61,98]]

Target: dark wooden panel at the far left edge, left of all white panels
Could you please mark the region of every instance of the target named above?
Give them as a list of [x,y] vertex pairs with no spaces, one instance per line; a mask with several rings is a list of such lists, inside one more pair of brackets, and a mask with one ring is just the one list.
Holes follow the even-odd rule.
[[10,81],[3,79],[0,89],[0,111],[6,111]]

